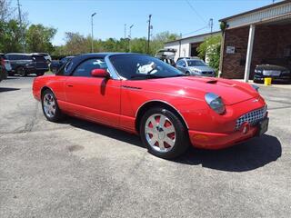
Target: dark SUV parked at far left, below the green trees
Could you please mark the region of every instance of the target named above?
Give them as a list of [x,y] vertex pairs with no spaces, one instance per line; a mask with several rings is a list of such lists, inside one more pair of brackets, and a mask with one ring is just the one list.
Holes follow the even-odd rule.
[[9,75],[43,75],[46,71],[48,71],[48,64],[46,63],[43,55],[10,53],[5,54],[5,58],[10,61],[12,67]]

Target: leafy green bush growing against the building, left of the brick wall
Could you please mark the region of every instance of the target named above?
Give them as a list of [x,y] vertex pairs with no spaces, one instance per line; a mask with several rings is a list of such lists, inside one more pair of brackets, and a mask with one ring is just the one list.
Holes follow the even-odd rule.
[[221,35],[210,36],[197,48],[198,56],[202,59],[208,58],[209,65],[216,70],[216,74],[219,69],[221,40]]

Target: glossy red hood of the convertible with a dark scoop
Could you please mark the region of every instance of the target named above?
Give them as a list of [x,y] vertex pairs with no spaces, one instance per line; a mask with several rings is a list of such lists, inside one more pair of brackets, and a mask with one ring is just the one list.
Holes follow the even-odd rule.
[[218,94],[225,104],[236,104],[258,96],[249,84],[234,80],[183,76],[162,79],[127,81],[128,85],[143,91],[181,95],[205,101],[206,93]]

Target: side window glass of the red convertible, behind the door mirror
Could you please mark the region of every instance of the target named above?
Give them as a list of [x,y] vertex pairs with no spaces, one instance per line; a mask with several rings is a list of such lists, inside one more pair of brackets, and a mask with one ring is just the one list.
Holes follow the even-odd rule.
[[104,59],[89,59],[79,64],[73,73],[73,76],[91,77],[91,71],[94,69],[107,69]]

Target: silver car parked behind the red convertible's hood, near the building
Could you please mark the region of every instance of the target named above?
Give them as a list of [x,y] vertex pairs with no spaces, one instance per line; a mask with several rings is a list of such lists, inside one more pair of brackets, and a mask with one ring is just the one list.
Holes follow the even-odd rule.
[[215,70],[198,58],[180,59],[176,62],[176,68],[188,75],[216,76]]

